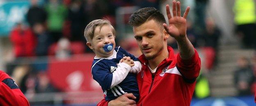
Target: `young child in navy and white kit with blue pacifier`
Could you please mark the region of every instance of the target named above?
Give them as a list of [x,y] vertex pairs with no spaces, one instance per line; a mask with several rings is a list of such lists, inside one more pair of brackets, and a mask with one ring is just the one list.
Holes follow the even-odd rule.
[[93,20],[85,28],[85,38],[87,46],[96,54],[91,73],[101,85],[105,100],[133,93],[138,102],[139,88],[134,73],[141,70],[142,64],[120,46],[115,47],[115,29],[111,23],[108,20]]

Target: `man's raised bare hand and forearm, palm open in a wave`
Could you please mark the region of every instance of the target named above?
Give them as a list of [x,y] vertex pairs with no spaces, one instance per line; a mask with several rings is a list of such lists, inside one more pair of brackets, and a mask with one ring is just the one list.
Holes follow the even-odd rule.
[[169,26],[167,26],[167,24],[163,24],[163,26],[167,33],[176,39],[181,58],[183,60],[188,60],[194,55],[194,47],[186,35],[186,18],[190,7],[187,7],[183,17],[181,17],[181,3],[174,0],[172,4],[173,16],[171,16],[169,5],[166,5]]

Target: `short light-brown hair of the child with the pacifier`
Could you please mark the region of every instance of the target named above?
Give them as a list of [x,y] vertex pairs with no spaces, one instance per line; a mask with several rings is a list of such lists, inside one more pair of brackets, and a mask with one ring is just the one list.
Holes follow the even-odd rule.
[[101,31],[101,27],[103,27],[104,25],[110,25],[110,27],[112,29],[112,33],[114,35],[116,34],[116,30],[111,25],[109,20],[107,20],[107,19],[93,20],[89,24],[87,24],[87,26],[85,27],[84,36],[85,36],[86,41],[91,42],[92,38],[94,37],[94,31],[95,31],[96,27],[100,27],[100,31]]

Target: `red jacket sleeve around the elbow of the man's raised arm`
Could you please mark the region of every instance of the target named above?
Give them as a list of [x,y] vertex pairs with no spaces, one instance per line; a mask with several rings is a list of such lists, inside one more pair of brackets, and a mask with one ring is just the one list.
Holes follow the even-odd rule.
[[177,68],[180,71],[181,75],[188,83],[193,83],[199,75],[201,69],[201,60],[197,53],[197,50],[194,49],[194,55],[188,59],[181,59],[180,54],[177,55]]

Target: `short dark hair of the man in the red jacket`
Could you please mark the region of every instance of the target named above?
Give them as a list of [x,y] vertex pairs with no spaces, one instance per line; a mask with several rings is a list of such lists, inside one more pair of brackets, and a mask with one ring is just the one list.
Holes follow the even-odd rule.
[[155,20],[162,26],[166,23],[165,17],[160,11],[154,7],[146,7],[135,11],[131,16],[128,24],[131,26],[139,26],[148,20]]

